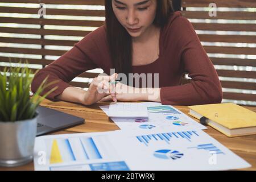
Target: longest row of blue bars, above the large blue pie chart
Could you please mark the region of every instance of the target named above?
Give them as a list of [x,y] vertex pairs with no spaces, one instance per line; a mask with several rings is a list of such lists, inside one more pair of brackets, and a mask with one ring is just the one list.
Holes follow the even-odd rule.
[[139,142],[148,146],[151,141],[164,141],[170,144],[171,139],[185,139],[191,142],[192,137],[199,137],[196,131],[180,131],[180,132],[170,132],[170,133],[159,133],[151,135],[142,135],[136,137]]

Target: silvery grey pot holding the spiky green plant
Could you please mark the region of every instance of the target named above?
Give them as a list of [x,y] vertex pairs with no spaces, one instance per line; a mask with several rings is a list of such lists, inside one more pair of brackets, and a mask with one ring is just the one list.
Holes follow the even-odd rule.
[[37,119],[38,113],[23,121],[0,121],[0,166],[22,166],[32,161]]

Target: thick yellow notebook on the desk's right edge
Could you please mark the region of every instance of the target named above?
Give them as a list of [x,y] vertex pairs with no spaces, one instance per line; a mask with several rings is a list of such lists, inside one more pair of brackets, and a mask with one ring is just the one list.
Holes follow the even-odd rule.
[[256,134],[256,113],[233,103],[188,106],[189,115],[200,119],[228,137]]

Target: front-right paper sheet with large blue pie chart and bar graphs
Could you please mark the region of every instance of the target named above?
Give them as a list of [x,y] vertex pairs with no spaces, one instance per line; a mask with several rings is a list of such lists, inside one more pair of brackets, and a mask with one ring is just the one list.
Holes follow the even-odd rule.
[[114,135],[109,139],[133,170],[225,170],[250,167],[249,163],[202,130],[147,130],[143,133],[133,131]]

